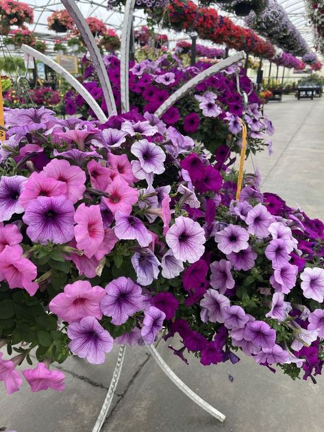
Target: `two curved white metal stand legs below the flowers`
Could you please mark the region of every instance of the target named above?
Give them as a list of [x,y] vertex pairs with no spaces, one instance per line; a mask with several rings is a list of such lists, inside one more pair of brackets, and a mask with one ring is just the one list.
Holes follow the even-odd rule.
[[[210,414],[220,422],[223,422],[225,420],[226,416],[224,416],[224,414],[218,411],[218,409],[212,407],[212,405],[210,405],[209,403],[205,402],[200,396],[198,396],[198,394],[193,392],[188,387],[188,385],[186,385],[181,379],[179,379],[175,372],[173,372],[173,370],[169,368],[164,359],[162,359],[162,357],[153,345],[146,345],[146,348],[147,351],[149,351],[149,353],[151,354],[153,360],[156,361],[158,366],[160,366],[160,368],[166,374],[166,377],[171,379],[171,381],[175,383],[175,385],[177,385],[177,387],[179,388],[179,390],[182,391],[182,393],[186,394],[186,396],[188,396],[188,398],[190,398],[196,405],[204,409],[206,412],[208,412],[208,414]],[[121,348],[119,348],[119,355],[117,358],[116,366],[114,368],[114,373],[112,374],[112,381],[110,382],[107,396],[105,396],[105,401],[103,402],[103,406],[101,407],[101,411],[97,418],[95,427],[92,429],[92,432],[101,431],[103,423],[105,422],[105,418],[108,415],[108,411],[112,404],[112,399],[114,398],[114,393],[116,392],[116,387],[119,383],[119,378],[121,377],[121,369],[123,367],[125,351],[125,345],[121,345]]]

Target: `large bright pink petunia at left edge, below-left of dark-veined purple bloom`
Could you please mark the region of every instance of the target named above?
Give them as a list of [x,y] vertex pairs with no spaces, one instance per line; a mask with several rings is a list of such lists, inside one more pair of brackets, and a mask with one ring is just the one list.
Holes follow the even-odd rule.
[[36,277],[37,267],[16,247],[6,246],[0,253],[0,280],[6,280],[9,288],[23,288],[34,296],[38,290],[38,284],[33,282]]

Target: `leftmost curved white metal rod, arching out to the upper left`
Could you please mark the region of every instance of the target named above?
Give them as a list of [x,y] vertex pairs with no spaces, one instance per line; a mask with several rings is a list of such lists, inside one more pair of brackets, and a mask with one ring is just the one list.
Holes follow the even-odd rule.
[[105,123],[107,121],[107,117],[105,116],[105,113],[103,112],[103,110],[101,110],[101,107],[99,107],[99,105],[97,104],[95,99],[91,96],[91,94],[86,90],[84,86],[82,86],[81,83],[79,83],[79,81],[77,81],[75,77],[73,77],[73,75],[71,75],[71,73],[66,71],[66,69],[62,68],[60,64],[54,62],[54,60],[48,58],[47,55],[40,53],[39,51],[37,51],[32,47],[29,47],[28,45],[25,44],[21,45],[21,51],[23,51],[23,53],[31,55],[37,60],[40,60],[40,62],[47,64],[47,66],[52,68],[53,71],[61,75],[62,78],[66,79],[66,81],[68,81],[68,84],[71,84],[71,86],[75,88],[75,90],[77,90],[79,94],[81,94],[81,96],[84,98],[86,103],[88,103],[92,111],[95,112],[98,120],[101,123]]

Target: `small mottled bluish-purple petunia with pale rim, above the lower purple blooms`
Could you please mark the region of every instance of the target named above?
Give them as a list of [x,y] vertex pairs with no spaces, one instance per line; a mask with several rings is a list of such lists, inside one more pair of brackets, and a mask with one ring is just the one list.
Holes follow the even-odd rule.
[[149,249],[142,249],[132,256],[132,265],[136,272],[137,283],[151,285],[154,279],[158,279],[160,262]]

